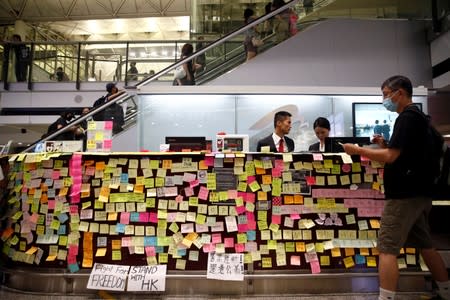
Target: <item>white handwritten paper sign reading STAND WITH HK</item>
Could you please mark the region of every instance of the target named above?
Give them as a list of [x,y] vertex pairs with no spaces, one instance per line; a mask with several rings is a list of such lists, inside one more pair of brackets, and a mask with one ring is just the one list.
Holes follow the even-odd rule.
[[127,291],[165,291],[166,273],[166,265],[132,266],[128,274]]

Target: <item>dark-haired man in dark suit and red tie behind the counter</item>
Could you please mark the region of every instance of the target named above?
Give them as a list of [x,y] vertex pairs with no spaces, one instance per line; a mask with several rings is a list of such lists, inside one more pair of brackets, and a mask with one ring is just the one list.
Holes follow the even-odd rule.
[[270,152],[292,152],[294,141],[286,136],[291,130],[291,114],[287,111],[279,111],[275,114],[273,125],[274,132],[258,141],[256,151],[261,152],[264,146],[270,147]]

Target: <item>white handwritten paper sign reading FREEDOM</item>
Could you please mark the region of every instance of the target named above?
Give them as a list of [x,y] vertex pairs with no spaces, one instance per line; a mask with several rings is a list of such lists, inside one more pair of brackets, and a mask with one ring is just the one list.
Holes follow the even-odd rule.
[[130,266],[94,264],[89,275],[88,289],[124,291]]

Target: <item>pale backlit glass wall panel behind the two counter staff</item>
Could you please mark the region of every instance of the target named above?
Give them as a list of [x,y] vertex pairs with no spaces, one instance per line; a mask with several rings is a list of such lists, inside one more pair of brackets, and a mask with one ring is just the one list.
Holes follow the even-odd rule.
[[[426,96],[414,97],[427,112]],[[317,117],[330,121],[330,136],[353,136],[354,102],[381,103],[379,95],[139,95],[139,145],[158,151],[166,136],[205,136],[213,141],[218,132],[248,134],[250,151],[259,139],[273,132],[273,116],[292,114],[289,137],[295,151],[307,151],[317,142],[313,123]],[[384,109],[384,108],[382,108]],[[370,124],[375,120],[367,120]],[[394,120],[392,120],[394,122]],[[392,123],[393,125],[393,123]],[[213,150],[215,148],[213,147]]]

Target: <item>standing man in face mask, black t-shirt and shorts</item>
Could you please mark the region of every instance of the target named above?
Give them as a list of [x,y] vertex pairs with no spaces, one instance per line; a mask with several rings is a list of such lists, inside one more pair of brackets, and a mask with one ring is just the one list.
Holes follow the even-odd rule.
[[[382,135],[373,142],[380,149],[345,144],[350,155],[385,162],[384,188],[386,201],[377,247],[379,256],[380,300],[394,299],[399,271],[397,256],[404,246],[420,249],[420,253],[436,281],[438,294],[450,299],[447,270],[433,248],[428,215],[432,201],[433,181],[428,121],[412,102],[412,84],[404,76],[393,76],[381,85],[383,105],[399,115],[389,143]],[[416,111],[414,111],[416,110]]]

